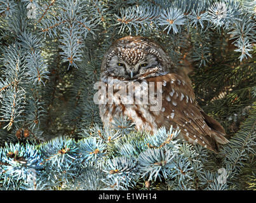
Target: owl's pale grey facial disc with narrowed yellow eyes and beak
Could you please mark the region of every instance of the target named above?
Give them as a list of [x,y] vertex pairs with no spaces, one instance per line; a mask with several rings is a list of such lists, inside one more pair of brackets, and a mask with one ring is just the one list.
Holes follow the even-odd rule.
[[117,55],[112,56],[107,65],[107,72],[112,77],[121,77],[121,79],[133,81],[135,79],[144,79],[160,70],[158,58],[152,54],[148,54],[142,60],[135,64],[129,63],[126,58]]

